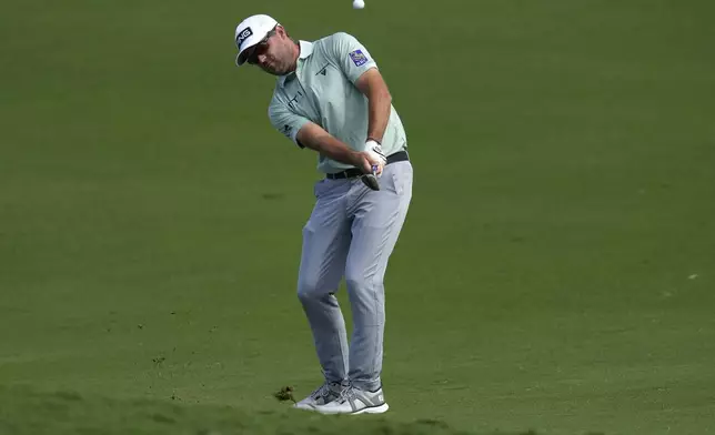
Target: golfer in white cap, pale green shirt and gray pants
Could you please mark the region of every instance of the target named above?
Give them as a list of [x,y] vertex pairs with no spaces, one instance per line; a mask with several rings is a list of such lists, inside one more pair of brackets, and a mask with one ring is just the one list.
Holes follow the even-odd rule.
[[[264,14],[235,28],[236,65],[276,75],[272,125],[318,153],[315,205],[303,227],[298,296],[324,383],[299,408],[384,413],[381,382],[384,276],[412,198],[405,132],[375,60],[354,37],[292,39]],[[348,345],[335,292],[345,279],[353,317]]]

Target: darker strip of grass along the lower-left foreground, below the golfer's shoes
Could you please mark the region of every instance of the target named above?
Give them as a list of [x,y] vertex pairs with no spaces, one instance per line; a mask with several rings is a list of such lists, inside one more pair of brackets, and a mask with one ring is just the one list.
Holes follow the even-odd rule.
[[[37,393],[27,388],[0,390],[0,432],[3,434],[394,434],[469,435],[444,422],[420,418],[413,423],[369,416],[325,417],[286,408],[245,413],[230,406],[167,401],[118,401],[75,392]],[[534,432],[524,433],[524,435]]]

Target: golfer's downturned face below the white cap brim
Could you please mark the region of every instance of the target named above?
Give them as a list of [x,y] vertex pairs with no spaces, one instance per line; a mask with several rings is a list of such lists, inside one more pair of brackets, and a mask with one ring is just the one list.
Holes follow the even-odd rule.
[[263,41],[249,49],[251,53],[246,62],[258,65],[269,74],[284,75],[291,71],[295,62],[293,44],[285,29],[276,26]]

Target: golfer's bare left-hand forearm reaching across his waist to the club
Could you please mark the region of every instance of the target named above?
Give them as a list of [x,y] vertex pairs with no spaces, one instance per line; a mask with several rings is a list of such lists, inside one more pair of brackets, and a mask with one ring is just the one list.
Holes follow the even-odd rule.
[[366,152],[354,151],[313,122],[308,122],[303,125],[295,139],[303,146],[318,151],[320,154],[338,162],[360,168],[364,173],[372,172],[373,164],[380,164],[376,158]]

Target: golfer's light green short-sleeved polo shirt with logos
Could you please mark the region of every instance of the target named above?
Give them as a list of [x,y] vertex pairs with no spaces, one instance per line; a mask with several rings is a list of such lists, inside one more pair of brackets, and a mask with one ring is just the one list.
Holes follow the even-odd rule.
[[[367,139],[367,98],[354,85],[363,72],[377,68],[367,50],[352,36],[335,33],[315,42],[300,41],[295,72],[279,77],[269,107],[271,124],[303,148],[295,135],[309,121],[355,151]],[[397,111],[392,107],[382,138],[385,155],[407,148]],[[319,156],[318,170],[340,172],[351,165]]]

